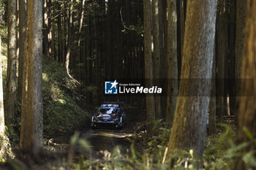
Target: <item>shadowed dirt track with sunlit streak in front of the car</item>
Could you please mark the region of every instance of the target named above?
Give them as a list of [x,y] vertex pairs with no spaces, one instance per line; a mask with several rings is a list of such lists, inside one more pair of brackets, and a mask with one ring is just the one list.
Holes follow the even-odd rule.
[[[127,110],[127,124],[122,129],[116,129],[111,126],[92,129],[85,125],[80,131],[76,131],[79,139],[85,139],[89,144],[90,152],[81,151],[80,144],[75,144],[75,153],[92,157],[101,157],[102,154],[112,152],[117,146],[121,152],[127,152],[138,123],[146,121],[146,111],[141,109]],[[72,136],[56,136],[51,139],[53,147],[65,148],[70,147],[70,138]],[[78,139],[78,140],[79,140]]]

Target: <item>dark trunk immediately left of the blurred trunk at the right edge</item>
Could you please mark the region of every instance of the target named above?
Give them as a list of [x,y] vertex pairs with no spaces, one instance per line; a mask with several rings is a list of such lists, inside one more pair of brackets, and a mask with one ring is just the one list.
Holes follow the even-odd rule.
[[[242,55],[244,48],[244,29],[245,29],[245,18],[246,18],[246,0],[237,0],[236,1],[236,59],[235,59],[235,78],[236,78],[236,104],[238,104],[240,84],[238,79],[241,78],[241,66],[242,66]],[[238,107],[235,110],[235,117],[237,120]]]

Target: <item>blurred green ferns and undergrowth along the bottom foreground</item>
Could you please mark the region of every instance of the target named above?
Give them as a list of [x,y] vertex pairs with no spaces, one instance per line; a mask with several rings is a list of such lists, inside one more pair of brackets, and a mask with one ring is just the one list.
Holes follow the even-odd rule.
[[[145,125],[138,125],[140,130]],[[225,131],[213,136],[208,136],[205,143],[203,161],[193,157],[193,150],[173,150],[167,155],[167,143],[170,137],[170,129],[164,128],[162,121],[157,120],[154,124],[153,136],[148,138],[146,133],[139,133],[140,141],[145,144],[145,150],[138,152],[138,141],[132,142],[127,152],[121,152],[117,146],[113,152],[101,151],[102,159],[83,159],[73,163],[72,169],[232,169],[234,159],[241,156],[246,167],[255,167],[255,150],[245,152],[241,150],[249,143],[235,144],[235,131],[232,126],[223,125]],[[158,133],[154,134],[154,133]],[[74,139],[77,139],[75,136]],[[85,140],[85,139],[83,139]],[[74,140],[75,141],[75,140]],[[256,144],[256,141],[253,141]],[[75,143],[75,142],[72,142]],[[85,142],[88,146],[88,142]],[[250,143],[252,144],[252,143]],[[141,147],[142,145],[140,145]]]

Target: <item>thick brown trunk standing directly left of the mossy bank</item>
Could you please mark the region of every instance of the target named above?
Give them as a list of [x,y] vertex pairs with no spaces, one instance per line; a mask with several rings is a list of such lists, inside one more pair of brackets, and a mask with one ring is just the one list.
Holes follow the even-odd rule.
[[42,147],[42,1],[28,0],[28,96],[26,150]]

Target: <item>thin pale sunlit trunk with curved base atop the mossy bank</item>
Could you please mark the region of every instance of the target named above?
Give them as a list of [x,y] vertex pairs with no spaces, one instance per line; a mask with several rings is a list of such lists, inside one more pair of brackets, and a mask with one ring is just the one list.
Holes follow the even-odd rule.
[[71,53],[71,41],[72,41],[72,23],[73,23],[73,1],[71,1],[70,9],[69,9],[69,23],[68,23],[68,35],[67,35],[67,55],[66,55],[66,61],[65,61],[65,67],[67,74],[70,77],[69,74],[69,58]]

